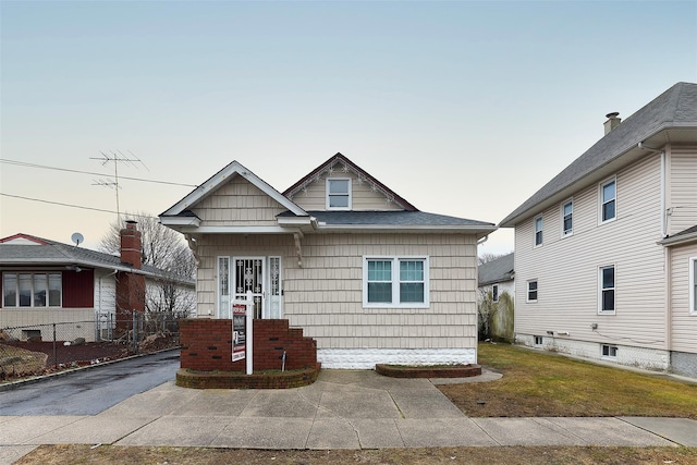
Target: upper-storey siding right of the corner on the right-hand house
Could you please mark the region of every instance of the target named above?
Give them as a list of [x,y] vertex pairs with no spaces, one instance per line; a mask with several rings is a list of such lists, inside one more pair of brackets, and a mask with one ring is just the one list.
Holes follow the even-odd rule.
[[668,234],[697,224],[697,146],[670,148],[670,189],[667,208]]

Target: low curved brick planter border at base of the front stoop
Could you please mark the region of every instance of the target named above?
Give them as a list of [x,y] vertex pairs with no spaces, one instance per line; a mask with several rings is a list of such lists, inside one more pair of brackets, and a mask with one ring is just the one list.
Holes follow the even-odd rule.
[[289,389],[309,386],[317,380],[320,364],[315,368],[245,375],[240,371],[196,371],[180,368],[176,386],[193,389]]

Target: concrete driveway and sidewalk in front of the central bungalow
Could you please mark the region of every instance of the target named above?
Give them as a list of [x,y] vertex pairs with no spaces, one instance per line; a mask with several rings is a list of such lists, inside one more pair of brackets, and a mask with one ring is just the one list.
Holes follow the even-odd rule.
[[316,383],[291,390],[191,390],[170,381],[94,416],[0,417],[0,463],[12,463],[38,444],[63,443],[318,450],[697,446],[697,421],[690,419],[468,418],[432,381],[438,382],[368,370],[322,370]]

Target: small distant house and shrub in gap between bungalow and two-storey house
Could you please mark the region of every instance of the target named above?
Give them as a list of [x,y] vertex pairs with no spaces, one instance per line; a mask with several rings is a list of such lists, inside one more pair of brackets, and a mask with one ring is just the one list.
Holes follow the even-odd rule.
[[513,342],[515,271],[514,254],[479,265],[479,332],[487,338]]

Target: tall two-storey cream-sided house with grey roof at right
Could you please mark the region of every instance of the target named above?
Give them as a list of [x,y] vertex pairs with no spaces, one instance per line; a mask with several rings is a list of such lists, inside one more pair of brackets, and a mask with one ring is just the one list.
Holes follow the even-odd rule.
[[521,344],[697,376],[697,84],[677,83],[504,218]]

